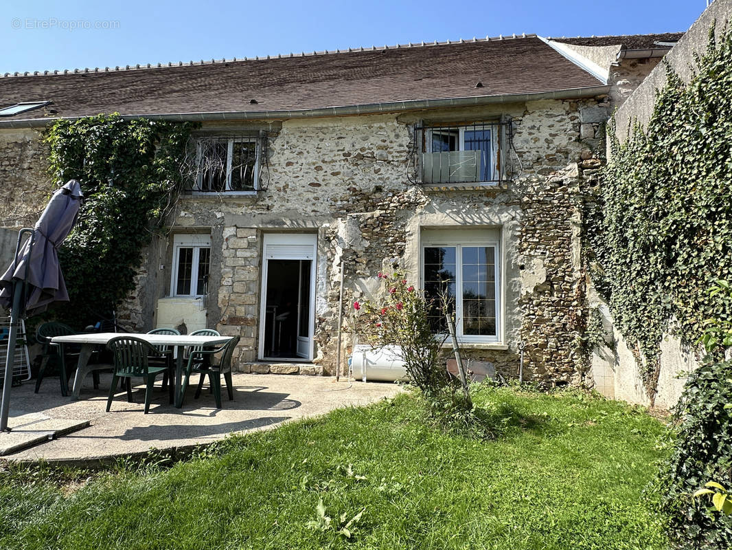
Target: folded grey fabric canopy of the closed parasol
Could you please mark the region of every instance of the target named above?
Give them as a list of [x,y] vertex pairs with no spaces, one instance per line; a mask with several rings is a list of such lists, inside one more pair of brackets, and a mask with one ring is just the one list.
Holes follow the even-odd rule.
[[[15,261],[0,279],[0,307],[10,308],[13,281],[27,283],[21,315],[44,312],[54,301],[68,301],[58,248],[74,227],[81,206],[81,185],[69,180],[51,197]],[[27,269],[26,269],[27,268]]]

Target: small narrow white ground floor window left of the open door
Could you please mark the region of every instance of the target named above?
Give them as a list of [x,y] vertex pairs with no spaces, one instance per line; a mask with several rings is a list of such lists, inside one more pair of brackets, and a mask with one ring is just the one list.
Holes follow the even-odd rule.
[[171,296],[203,296],[208,293],[211,237],[174,235]]

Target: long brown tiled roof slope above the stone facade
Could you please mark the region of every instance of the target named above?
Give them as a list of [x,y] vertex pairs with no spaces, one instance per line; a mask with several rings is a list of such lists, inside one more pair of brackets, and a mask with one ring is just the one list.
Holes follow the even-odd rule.
[[[476,87],[478,82],[482,87]],[[123,115],[303,111],[585,87],[602,87],[602,82],[531,35],[11,76],[0,78],[0,107],[36,100],[51,104],[0,117],[0,123],[113,111]]]

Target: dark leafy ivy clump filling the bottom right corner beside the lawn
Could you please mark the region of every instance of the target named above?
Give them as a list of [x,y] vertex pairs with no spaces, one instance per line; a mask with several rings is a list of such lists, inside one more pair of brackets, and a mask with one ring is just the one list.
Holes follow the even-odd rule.
[[[732,305],[727,281],[706,294]],[[660,467],[660,509],[680,548],[731,548],[732,501],[725,487],[732,481],[732,322],[709,319],[700,343],[707,355],[684,384],[671,455]],[[711,504],[725,513],[695,498],[704,494],[712,494]]]

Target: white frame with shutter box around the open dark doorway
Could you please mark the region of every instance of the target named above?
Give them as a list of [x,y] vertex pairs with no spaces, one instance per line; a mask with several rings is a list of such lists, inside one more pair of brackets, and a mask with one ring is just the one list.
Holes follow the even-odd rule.
[[[262,244],[262,280],[259,300],[259,349],[258,358],[264,356],[266,329],[267,276],[269,260],[310,260],[310,326],[307,357],[301,361],[313,360],[313,336],[315,334],[315,260],[318,253],[318,235],[315,233],[265,233]],[[279,359],[279,358],[271,358]],[[298,359],[288,358],[288,361]]]

